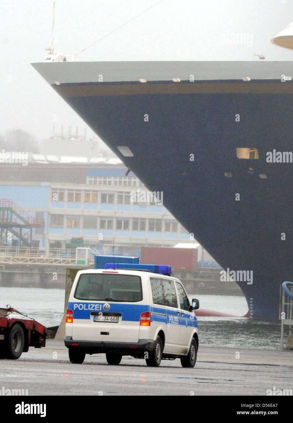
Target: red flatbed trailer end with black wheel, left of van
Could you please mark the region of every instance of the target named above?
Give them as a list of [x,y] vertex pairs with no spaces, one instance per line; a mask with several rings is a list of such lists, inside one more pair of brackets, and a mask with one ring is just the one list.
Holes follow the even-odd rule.
[[[11,313],[24,316],[11,316]],[[0,359],[17,360],[30,346],[46,345],[46,327],[12,307],[0,308]]]

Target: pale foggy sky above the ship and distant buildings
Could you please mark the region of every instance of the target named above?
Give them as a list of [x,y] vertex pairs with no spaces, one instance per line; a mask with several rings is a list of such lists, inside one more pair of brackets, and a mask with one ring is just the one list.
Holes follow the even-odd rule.
[[[157,1],[56,0],[56,51],[77,53]],[[52,4],[0,1],[0,134],[20,128],[47,138],[54,115],[83,132],[82,119],[30,65],[51,44]],[[77,60],[292,60],[293,51],[270,42],[292,20],[293,0],[163,0]],[[222,44],[227,31],[252,33],[252,47]]]

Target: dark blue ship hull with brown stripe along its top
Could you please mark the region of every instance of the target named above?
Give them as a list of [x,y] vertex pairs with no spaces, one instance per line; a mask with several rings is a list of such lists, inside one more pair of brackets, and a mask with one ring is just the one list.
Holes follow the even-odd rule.
[[[293,277],[293,163],[268,163],[266,153],[292,151],[293,83],[52,86],[149,190],[163,191],[164,205],[224,269],[253,272],[252,284],[238,282],[250,315],[277,318],[280,284]],[[257,148],[259,159],[238,159],[238,147]]]

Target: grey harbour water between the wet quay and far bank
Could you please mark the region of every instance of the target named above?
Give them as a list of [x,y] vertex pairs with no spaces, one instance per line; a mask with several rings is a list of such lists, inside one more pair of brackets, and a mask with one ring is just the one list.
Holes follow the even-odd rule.
[[[0,307],[10,304],[45,326],[58,325],[64,311],[63,289],[0,287]],[[248,310],[244,297],[189,295],[200,307],[244,316]],[[280,323],[245,318],[199,317],[200,346],[279,349]]]

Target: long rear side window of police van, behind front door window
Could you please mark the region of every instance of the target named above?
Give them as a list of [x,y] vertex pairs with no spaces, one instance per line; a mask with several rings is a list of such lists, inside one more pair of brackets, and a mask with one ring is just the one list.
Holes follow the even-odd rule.
[[151,277],[150,280],[153,303],[177,308],[178,304],[173,280],[161,277]]

